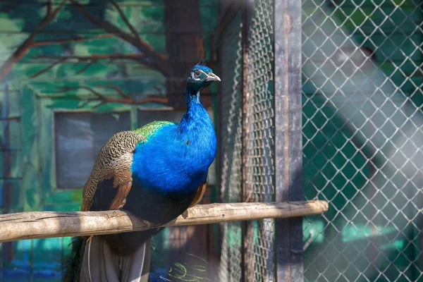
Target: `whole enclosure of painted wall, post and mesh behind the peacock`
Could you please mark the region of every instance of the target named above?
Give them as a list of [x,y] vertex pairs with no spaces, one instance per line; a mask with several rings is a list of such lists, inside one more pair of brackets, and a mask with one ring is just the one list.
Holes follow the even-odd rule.
[[[219,154],[202,204],[326,200],[322,216],[166,228],[210,281],[422,280],[417,0],[4,0],[0,211],[78,211],[113,133],[202,93]],[[61,281],[70,238],[1,244],[0,281]],[[201,280],[199,280],[201,281]]]

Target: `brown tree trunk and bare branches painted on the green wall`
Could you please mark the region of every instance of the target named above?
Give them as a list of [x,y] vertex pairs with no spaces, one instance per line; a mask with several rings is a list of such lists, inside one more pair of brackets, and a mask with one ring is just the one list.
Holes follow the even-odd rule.
[[[6,75],[12,71],[13,66],[22,61],[31,49],[51,45],[63,45],[65,52],[61,52],[61,54],[40,54],[37,56],[30,56],[31,60],[39,60],[40,63],[49,61],[49,64],[36,73],[28,75],[28,77],[39,78],[42,75],[46,75],[54,68],[59,68],[63,63],[69,63],[71,61],[76,61],[78,65],[80,65],[80,63],[84,64],[82,67],[77,67],[77,63],[75,63],[74,70],[75,68],[79,68],[78,71],[75,71],[75,75],[81,75],[87,72],[96,63],[104,64],[104,61],[114,61],[114,63],[133,61],[142,65],[144,68],[157,71],[163,75],[167,81],[167,94],[181,94],[183,93],[183,83],[185,82],[185,75],[183,74],[190,69],[193,63],[199,61],[205,55],[202,23],[200,20],[200,6],[198,0],[182,1],[178,5],[175,5],[173,1],[166,0],[163,4],[166,49],[161,49],[161,51],[159,51],[157,48],[153,47],[152,44],[149,44],[149,42],[140,37],[140,32],[138,32],[135,25],[131,23],[130,18],[125,15],[125,11],[127,10],[124,11],[124,8],[128,7],[121,7],[117,1],[111,0],[109,1],[109,5],[106,5],[107,8],[114,9],[117,13],[117,22],[112,23],[111,20],[105,16],[106,8],[102,11],[98,11],[98,15],[95,13],[97,10],[93,8],[93,6],[98,4],[93,4],[91,2],[88,4],[81,4],[78,0],[63,0],[59,4],[54,5],[51,3],[51,0],[49,0],[44,4],[44,18],[39,20],[37,26],[30,32],[30,35],[28,35],[20,46],[13,51],[13,54],[11,54],[0,67],[0,80],[6,78]],[[102,34],[95,36],[78,35],[64,39],[42,39],[43,35],[49,32],[49,29],[54,28],[55,30],[60,30],[59,27],[63,25],[63,23],[61,23],[63,19],[59,14],[62,15],[63,13],[71,13],[72,16],[79,15],[86,21],[85,30],[92,30],[93,28],[95,30],[99,29],[102,30]],[[123,25],[118,26],[118,21],[123,22]],[[56,28],[56,25],[59,25],[59,27]],[[121,42],[128,44],[133,52],[130,53],[128,50],[116,52],[116,50],[112,50],[110,54],[89,54],[87,56],[80,56],[79,54],[68,55],[69,52],[66,52],[66,46],[69,44],[72,44],[70,48],[78,49],[78,46],[75,46],[76,43],[93,40],[97,40],[97,42],[100,40],[101,42],[102,39],[111,38],[119,39]],[[105,41],[104,44],[107,44],[107,42]],[[164,54],[164,51],[166,51],[166,54]],[[174,108],[183,108],[185,106],[185,99],[183,95],[178,96],[179,97],[169,97],[166,103]],[[154,99],[147,99],[146,101],[156,102]],[[163,102],[163,99],[159,99],[158,101]],[[122,102],[123,104],[142,104],[137,102],[137,99],[133,99],[133,101],[123,99]],[[204,102],[205,104],[209,104],[208,99]]]

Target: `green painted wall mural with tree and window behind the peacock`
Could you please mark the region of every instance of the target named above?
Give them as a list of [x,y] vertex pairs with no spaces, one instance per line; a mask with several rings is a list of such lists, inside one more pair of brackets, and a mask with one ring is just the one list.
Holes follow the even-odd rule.
[[[113,133],[180,118],[190,67],[204,58],[216,68],[217,18],[216,0],[1,1],[0,212],[78,211]],[[210,114],[214,87],[203,98]],[[215,185],[212,172],[205,202]],[[213,230],[168,229],[157,245],[210,259]],[[0,281],[60,281],[69,242],[4,243]]]

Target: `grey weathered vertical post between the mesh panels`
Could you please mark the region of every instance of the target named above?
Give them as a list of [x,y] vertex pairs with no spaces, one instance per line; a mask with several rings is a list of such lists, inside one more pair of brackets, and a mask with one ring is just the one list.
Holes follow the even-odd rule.
[[[301,1],[274,0],[276,200],[302,199]],[[302,218],[275,220],[276,281],[304,281]]]

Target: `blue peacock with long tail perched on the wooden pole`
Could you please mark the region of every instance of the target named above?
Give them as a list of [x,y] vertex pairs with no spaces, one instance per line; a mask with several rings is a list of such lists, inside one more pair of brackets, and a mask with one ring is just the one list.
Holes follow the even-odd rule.
[[[180,123],[154,121],[113,135],[85,183],[81,211],[125,209],[166,223],[200,202],[217,147],[200,92],[216,80],[200,61],[188,75]],[[159,231],[73,238],[64,281],[151,281],[151,238]]]

